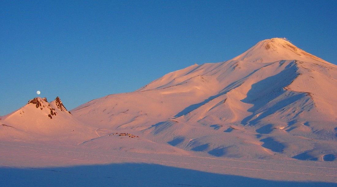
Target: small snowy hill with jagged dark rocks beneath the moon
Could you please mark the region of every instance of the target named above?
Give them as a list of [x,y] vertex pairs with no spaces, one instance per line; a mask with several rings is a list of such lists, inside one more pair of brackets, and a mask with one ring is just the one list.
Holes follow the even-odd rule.
[[[69,141],[96,137],[94,128],[76,120],[57,97],[36,97],[19,110],[1,117],[1,140]],[[66,140],[64,140],[66,139]]]

